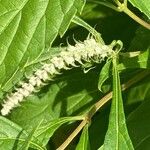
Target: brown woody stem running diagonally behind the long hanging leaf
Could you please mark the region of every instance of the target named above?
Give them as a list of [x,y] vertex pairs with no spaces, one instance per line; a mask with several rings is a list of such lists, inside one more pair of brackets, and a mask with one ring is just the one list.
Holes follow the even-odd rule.
[[[121,85],[122,91],[128,89],[131,87],[134,83],[139,82],[142,80],[144,77],[150,74],[149,70],[144,70],[140,73],[138,73],[136,76],[134,76],[132,79],[130,79],[128,82],[125,84]],[[89,120],[91,120],[92,116],[104,105],[106,104],[109,100],[112,99],[112,91],[105,95],[102,99],[100,99],[97,103],[95,103],[90,111],[86,114],[85,119],[79,124],[79,126],[72,132],[72,134],[66,139],[66,141],[59,147],[57,150],[64,150],[70,142],[78,135],[78,133],[83,129],[83,127],[89,123]]]

